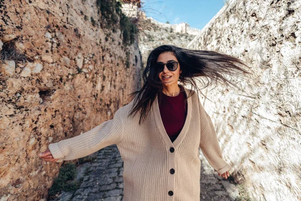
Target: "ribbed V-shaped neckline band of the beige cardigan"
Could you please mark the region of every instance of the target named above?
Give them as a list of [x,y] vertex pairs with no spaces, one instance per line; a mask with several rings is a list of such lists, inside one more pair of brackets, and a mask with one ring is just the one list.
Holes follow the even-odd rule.
[[[186,97],[188,97],[188,90],[185,86],[183,86],[183,87],[184,87],[184,90],[186,93]],[[162,121],[161,114],[160,114],[160,109],[159,109],[158,95],[156,96],[154,103],[155,104],[154,104],[153,112],[154,112],[154,116],[155,116],[155,121],[156,121],[158,130],[159,130],[165,144],[168,146],[168,148],[170,148],[170,147],[178,148],[180,146],[181,142],[183,141],[184,137],[186,136],[188,128],[190,126],[191,116],[192,116],[191,97],[189,97],[187,99],[187,116],[186,116],[184,126],[183,126],[180,134],[178,135],[178,137],[174,140],[174,142],[171,141],[170,137],[168,136],[168,134],[164,128],[163,121]]]

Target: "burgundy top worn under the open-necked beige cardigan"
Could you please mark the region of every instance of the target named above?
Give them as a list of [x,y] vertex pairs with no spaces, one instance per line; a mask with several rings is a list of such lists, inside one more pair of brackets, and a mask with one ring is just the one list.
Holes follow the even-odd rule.
[[162,100],[159,104],[160,115],[166,133],[174,142],[180,134],[187,116],[187,103],[185,91],[181,91],[177,96],[168,96],[162,93]]

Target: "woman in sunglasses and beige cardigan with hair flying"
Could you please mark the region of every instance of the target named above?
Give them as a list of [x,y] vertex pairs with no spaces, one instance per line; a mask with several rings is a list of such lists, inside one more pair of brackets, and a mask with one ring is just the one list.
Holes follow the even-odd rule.
[[219,176],[227,179],[230,165],[198,94],[178,81],[195,88],[197,77],[228,84],[223,73],[248,73],[239,65],[241,60],[213,51],[159,46],[148,56],[142,89],[130,94],[134,99],[112,120],[50,144],[40,156],[61,162],[116,144],[123,159],[124,201],[200,200],[199,147]]

